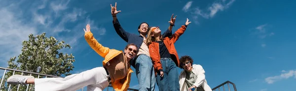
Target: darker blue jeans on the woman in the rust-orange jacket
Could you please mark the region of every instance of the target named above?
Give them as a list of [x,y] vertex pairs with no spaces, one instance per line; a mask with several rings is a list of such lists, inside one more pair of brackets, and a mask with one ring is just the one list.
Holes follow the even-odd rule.
[[159,91],[180,91],[179,74],[175,62],[171,58],[160,59],[163,77],[157,72],[156,83]]

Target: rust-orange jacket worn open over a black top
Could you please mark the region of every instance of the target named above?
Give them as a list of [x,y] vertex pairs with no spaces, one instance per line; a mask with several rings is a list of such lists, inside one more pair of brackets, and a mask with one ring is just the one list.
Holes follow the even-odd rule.
[[[179,63],[179,56],[174,44],[179,39],[179,37],[185,32],[185,30],[186,30],[186,26],[182,25],[182,27],[179,28],[171,37],[165,37],[163,39],[163,43],[169,50],[170,54],[174,55],[172,56],[172,60],[175,62],[177,67],[179,67],[180,63]],[[159,44],[157,42],[151,42],[151,44],[149,44],[148,47],[149,47],[149,54],[152,59],[155,75],[156,75],[158,70],[162,69],[162,66],[160,63]]]

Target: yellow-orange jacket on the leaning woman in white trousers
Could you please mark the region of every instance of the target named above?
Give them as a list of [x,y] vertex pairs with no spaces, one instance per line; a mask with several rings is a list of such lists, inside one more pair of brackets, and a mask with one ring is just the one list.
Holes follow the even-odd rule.
[[[101,45],[94,37],[93,34],[91,32],[86,32],[84,34],[84,38],[86,40],[86,42],[88,43],[88,45],[90,45],[90,47],[92,49],[94,49],[99,55],[101,55],[102,57],[105,58],[105,60],[103,61],[103,66],[105,67],[106,64],[113,59],[114,57],[116,57],[117,55],[119,55],[120,53],[122,53],[122,50],[116,50],[116,49],[110,49],[109,47],[105,47],[103,45]],[[129,71],[126,75],[125,78],[120,80],[116,80],[113,83],[111,83],[113,89],[115,91],[127,91],[128,87],[129,87],[129,83],[131,81],[131,73],[133,72],[133,70],[131,68],[129,68]]]

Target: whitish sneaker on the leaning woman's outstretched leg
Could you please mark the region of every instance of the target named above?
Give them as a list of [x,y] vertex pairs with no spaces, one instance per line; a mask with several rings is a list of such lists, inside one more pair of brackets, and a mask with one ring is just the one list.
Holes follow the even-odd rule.
[[21,84],[21,85],[26,85],[26,81],[28,78],[35,78],[34,76],[30,76],[30,75],[12,75],[7,79],[7,83],[11,84],[11,85],[17,85],[17,84]]

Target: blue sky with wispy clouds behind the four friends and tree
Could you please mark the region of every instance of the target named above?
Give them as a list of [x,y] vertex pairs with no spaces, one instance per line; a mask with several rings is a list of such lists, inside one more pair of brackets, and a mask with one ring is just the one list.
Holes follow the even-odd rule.
[[[175,44],[179,56],[193,57],[206,71],[211,88],[229,80],[239,91],[293,91],[296,84],[294,0],[0,0],[0,66],[21,52],[28,35],[46,32],[72,45],[72,73],[101,67],[103,58],[83,38],[87,23],[102,45],[122,50],[110,4],[121,10],[123,28],[138,33],[142,22],[173,32],[190,23]],[[145,6],[145,7],[143,7]],[[293,41],[294,40],[294,41]],[[179,69],[181,72],[181,69]],[[130,88],[138,89],[135,73]],[[158,88],[156,87],[156,91]]]

